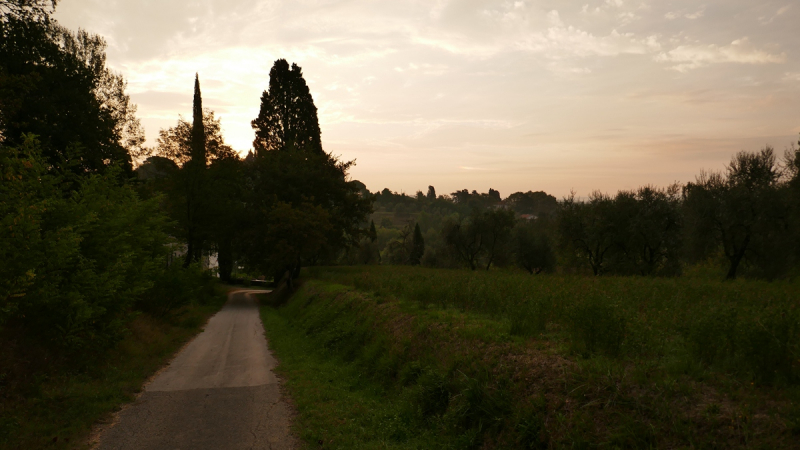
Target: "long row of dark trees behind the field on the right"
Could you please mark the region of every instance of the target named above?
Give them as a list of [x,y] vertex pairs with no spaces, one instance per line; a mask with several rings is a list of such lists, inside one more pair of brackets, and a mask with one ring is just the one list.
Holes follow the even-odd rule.
[[[675,276],[687,266],[773,279],[800,261],[800,149],[740,152],[694,182],[558,201],[544,192],[374,195],[374,231],[343,262],[530,273]],[[377,219],[377,226],[374,220]],[[420,234],[414,244],[414,230]],[[424,241],[420,258],[412,248]]]

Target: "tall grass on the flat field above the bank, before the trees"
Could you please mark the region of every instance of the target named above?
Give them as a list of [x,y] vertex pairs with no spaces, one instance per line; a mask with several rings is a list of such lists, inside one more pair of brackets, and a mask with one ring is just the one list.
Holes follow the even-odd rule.
[[584,277],[415,267],[311,268],[313,278],[426,308],[563,337],[582,355],[701,366],[761,384],[800,383],[800,283]]

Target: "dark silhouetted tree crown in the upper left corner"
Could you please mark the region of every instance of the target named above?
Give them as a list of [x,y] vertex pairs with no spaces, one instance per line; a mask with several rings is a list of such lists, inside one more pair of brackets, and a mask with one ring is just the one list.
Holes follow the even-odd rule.
[[4,2],[0,20],[0,139],[39,136],[51,164],[77,173],[143,156],[144,133],[125,81],[105,65],[105,41],[73,33],[46,15],[48,2]]

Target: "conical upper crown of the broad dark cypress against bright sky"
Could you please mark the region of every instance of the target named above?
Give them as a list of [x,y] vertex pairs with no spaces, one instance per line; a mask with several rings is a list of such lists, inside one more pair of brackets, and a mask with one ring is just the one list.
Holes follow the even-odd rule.
[[275,61],[269,91],[261,95],[261,110],[252,122],[256,154],[270,150],[307,148],[322,152],[317,107],[297,64]]

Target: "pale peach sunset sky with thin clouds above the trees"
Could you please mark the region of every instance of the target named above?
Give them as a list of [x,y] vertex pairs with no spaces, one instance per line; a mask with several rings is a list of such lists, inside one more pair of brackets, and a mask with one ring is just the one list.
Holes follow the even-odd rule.
[[108,42],[147,141],[203,106],[243,154],[278,58],[326,151],[414,194],[693,181],[800,133],[796,0],[60,0]]

